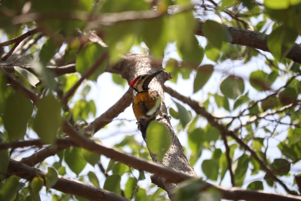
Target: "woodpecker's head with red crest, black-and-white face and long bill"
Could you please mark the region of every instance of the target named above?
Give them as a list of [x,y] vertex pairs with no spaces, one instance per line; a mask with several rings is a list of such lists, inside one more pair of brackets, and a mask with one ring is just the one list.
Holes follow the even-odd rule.
[[151,74],[139,75],[138,77],[132,79],[130,82],[130,87],[132,87],[136,92],[148,91],[151,80],[160,72],[162,72],[162,70]]

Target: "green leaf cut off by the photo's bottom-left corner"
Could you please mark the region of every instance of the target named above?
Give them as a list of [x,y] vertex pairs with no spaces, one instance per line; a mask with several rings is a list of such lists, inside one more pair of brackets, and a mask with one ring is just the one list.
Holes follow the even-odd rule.
[[0,187],[1,201],[14,201],[18,192],[19,177],[13,175],[4,181]]

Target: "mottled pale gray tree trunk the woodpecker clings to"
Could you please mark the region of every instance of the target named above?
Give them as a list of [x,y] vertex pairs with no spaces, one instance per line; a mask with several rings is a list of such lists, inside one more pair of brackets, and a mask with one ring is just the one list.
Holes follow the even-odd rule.
[[[149,56],[138,54],[128,54],[123,57],[122,61],[117,65],[108,67],[107,71],[120,74],[128,82],[141,74],[150,74],[158,70],[163,70],[162,64],[154,61]],[[156,121],[162,123],[169,130],[171,136],[171,146],[165,153],[162,164],[171,167],[179,172],[185,173],[190,176],[196,177],[194,169],[189,165],[187,158],[184,154],[182,145],[175,134],[167,114],[167,109],[164,101],[164,82],[171,78],[171,74],[163,71],[157,75],[150,83],[150,89],[158,91],[161,96],[160,111],[156,116]],[[135,96],[135,94],[134,94]],[[150,150],[150,149],[149,149]],[[154,162],[158,162],[156,156],[151,152],[151,158]],[[167,191],[169,198],[173,198],[173,189],[177,186],[174,183],[168,183],[164,178],[152,175],[151,181]]]

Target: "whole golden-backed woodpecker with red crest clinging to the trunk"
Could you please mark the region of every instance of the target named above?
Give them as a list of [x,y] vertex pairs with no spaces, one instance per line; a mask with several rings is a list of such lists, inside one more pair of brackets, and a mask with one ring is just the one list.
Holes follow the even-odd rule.
[[130,87],[137,92],[137,95],[133,100],[133,111],[144,139],[146,137],[146,129],[149,123],[151,120],[154,120],[156,116],[156,112],[151,115],[148,115],[148,112],[155,106],[156,101],[160,98],[160,95],[156,90],[149,89],[149,84],[160,72],[162,72],[162,70],[151,74],[139,75],[129,84]]

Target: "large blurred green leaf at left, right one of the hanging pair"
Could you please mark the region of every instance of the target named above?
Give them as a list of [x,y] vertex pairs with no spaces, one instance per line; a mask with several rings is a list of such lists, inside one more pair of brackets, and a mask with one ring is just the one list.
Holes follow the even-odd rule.
[[33,120],[33,130],[44,143],[54,143],[61,124],[61,104],[51,93],[37,103],[37,113]]

